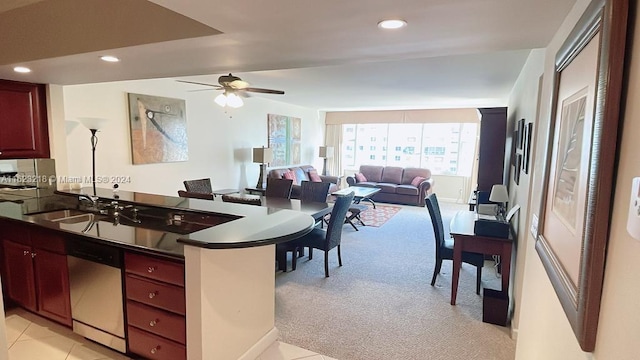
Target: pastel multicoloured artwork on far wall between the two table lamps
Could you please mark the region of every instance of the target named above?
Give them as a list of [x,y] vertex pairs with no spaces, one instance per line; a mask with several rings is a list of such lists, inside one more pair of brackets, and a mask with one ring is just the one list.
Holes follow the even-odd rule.
[[301,163],[302,120],[300,118],[267,114],[268,147],[273,149],[271,166]]

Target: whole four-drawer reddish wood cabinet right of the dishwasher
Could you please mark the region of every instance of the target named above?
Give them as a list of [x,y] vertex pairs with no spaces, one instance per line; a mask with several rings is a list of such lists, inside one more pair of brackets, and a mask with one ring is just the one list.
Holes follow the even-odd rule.
[[186,359],[184,264],[125,252],[124,267],[129,351]]

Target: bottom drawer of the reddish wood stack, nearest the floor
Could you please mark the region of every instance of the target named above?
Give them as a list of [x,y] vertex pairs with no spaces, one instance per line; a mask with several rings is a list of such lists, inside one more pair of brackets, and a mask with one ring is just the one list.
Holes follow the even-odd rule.
[[129,351],[153,360],[187,358],[187,348],[171,340],[129,326]]

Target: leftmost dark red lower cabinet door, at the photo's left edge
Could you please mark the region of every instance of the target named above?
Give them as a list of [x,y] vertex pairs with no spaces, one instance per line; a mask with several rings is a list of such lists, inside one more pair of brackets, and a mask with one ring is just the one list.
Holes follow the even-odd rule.
[[26,309],[36,311],[36,287],[31,247],[4,241],[4,267],[7,296]]

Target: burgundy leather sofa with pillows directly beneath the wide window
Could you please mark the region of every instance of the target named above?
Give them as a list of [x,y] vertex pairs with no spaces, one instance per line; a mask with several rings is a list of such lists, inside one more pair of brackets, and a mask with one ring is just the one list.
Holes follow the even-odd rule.
[[361,165],[358,173],[347,177],[349,186],[378,187],[371,197],[376,202],[424,206],[432,192],[431,170],[397,166]]

